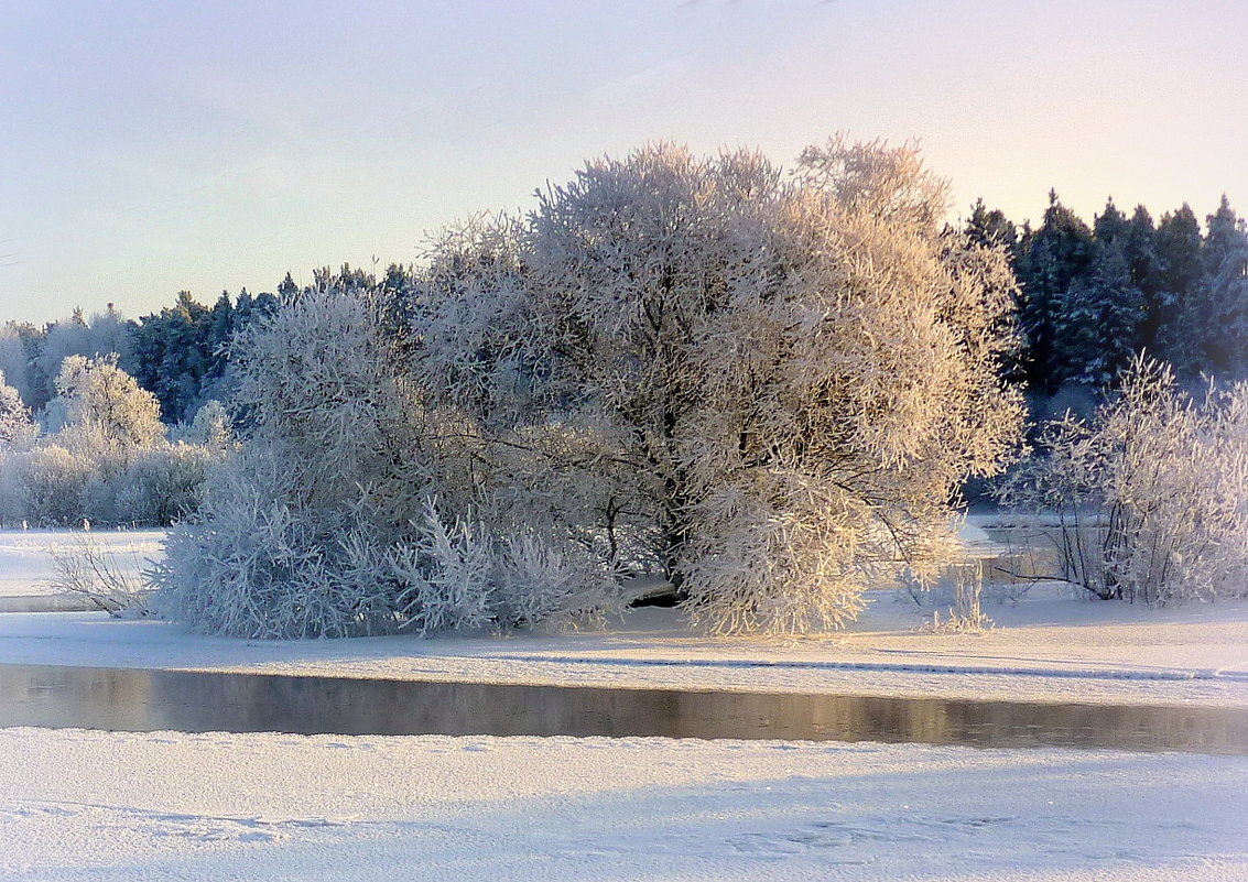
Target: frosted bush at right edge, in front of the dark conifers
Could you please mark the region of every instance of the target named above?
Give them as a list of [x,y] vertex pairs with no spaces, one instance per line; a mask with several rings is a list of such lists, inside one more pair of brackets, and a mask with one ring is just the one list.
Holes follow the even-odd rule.
[[1056,574],[1102,599],[1248,594],[1248,384],[1183,392],[1137,359],[1091,423],[1053,423],[1005,503],[1056,516]]

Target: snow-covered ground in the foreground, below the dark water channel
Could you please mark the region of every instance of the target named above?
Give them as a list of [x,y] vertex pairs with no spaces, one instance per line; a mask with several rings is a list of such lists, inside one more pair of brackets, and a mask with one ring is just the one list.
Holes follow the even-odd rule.
[[6,882],[1248,880],[1248,757],[0,730]]

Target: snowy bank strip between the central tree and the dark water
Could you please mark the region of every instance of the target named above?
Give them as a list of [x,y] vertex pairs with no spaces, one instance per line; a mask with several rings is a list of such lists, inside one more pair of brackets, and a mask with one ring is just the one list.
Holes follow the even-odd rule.
[[0,662],[525,685],[1248,706],[1248,603],[1146,609],[1056,589],[988,604],[980,635],[930,634],[930,608],[875,591],[851,630],[690,636],[674,610],[600,631],[227,640],[102,613],[0,615]]

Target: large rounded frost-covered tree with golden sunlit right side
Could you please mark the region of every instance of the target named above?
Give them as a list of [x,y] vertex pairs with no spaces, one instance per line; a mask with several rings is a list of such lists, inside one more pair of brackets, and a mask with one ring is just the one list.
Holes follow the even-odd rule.
[[1015,286],[914,150],[834,140],[785,176],[656,145],[538,198],[448,237],[416,311],[418,382],[518,497],[718,631],[839,625],[941,560],[1020,428]]

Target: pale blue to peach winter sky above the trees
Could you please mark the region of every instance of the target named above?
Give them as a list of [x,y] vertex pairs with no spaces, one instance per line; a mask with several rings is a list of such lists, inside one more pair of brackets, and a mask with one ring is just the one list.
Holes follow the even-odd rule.
[[654,140],[917,140],[1038,221],[1248,213],[1248,1],[0,4],[0,322],[418,261]]

